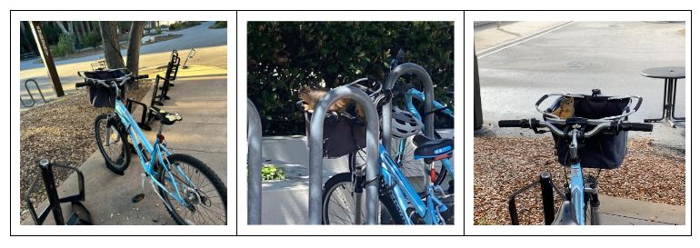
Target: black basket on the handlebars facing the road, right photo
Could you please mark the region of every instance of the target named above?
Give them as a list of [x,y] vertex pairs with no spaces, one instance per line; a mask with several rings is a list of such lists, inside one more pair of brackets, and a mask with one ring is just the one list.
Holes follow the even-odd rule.
[[[555,101],[555,105],[564,99],[560,97]],[[600,119],[610,116],[624,114],[629,111],[628,105],[632,99],[629,97],[613,98],[603,95],[584,95],[584,98],[574,98],[575,117],[587,119]],[[555,109],[556,106],[550,108]],[[620,117],[616,120],[626,120]],[[564,125],[557,125],[564,130]],[[586,126],[585,131],[590,131],[595,126]],[[555,139],[555,150],[559,164],[568,165],[569,143],[568,138],[553,134]],[[580,141],[578,154],[581,166],[585,168],[616,169],[619,168],[625,155],[627,154],[627,132],[619,133],[601,132]]]

